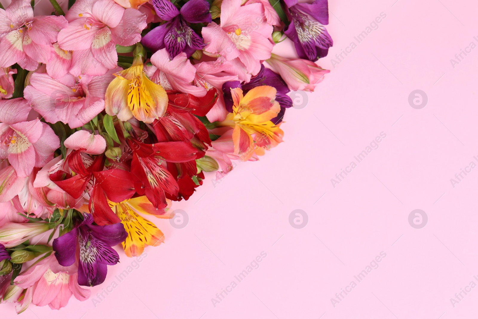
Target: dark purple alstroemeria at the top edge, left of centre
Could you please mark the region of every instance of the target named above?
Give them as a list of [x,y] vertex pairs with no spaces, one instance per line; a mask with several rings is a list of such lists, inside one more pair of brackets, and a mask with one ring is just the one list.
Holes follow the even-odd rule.
[[166,48],[171,58],[181,52],[185,52],[189,57],[196,50],[204,48],[206,44],[203,43],[203,39],[186,22],[211,22],[209,2],[190,0],[181,7],[181,10],[168,0],[153,0],[152,4],[156,14],[167,22],[143,36],[141,44],[153,52]]

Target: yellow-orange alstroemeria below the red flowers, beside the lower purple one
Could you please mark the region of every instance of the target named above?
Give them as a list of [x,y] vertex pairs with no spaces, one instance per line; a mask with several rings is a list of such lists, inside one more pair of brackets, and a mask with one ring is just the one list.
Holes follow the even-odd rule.
[[120,203],[109,201],[109,207],[120,218],[128,237],[122,246],[128,257],[139,256],[144,247],[158,246],[164,242],[164,234],[151,221],[138,213],[155,215],[158,218],[171,218],[165,210],[155,209],[146,196],[130,198]]

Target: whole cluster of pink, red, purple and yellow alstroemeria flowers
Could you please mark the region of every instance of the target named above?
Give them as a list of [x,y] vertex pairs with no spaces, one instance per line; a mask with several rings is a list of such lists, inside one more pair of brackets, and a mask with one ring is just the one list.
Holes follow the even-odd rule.
[[[205,172],[281,143],[332,45],[327,0],[50,2],[0,5],[0,301],[18,313],[87,299],[114,246],[164,242],[150,219]],[[272,53],[287,38],[297,58]]]

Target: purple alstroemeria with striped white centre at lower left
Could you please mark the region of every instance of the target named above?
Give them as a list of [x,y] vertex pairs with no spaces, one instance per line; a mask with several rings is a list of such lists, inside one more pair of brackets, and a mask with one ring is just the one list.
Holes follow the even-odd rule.
[[80,246],[78,285],[96,286],[105,281],[107,265],[120,261],[118,253],[111,248],[123,242],[128,233],[122,223],[93,225],[93,216],[83,213],[84,220],[71,231],[55,238],[53,250],[62,266],[71,266],[76,261],[76,244]]

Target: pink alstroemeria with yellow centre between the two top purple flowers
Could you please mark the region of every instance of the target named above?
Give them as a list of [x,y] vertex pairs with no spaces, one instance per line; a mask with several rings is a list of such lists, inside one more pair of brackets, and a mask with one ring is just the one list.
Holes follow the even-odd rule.
[[238,58],[252,75],[261,70],[261,60],[271,57],[272,25],[267,23],[262,3],[241,6],[241,0],[224,0],[221,24],[211,22],[202,29],[207,55]]

